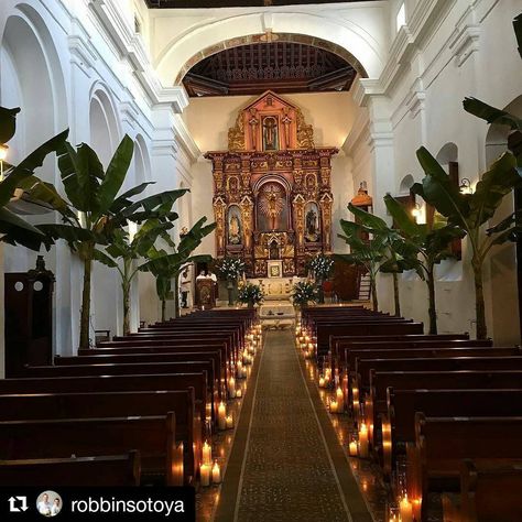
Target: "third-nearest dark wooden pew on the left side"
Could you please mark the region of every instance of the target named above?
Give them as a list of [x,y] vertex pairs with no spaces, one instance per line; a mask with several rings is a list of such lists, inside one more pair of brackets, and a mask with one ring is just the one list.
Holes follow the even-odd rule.
[[184,447],[184,481],[194,482],[202,463],[202,418],[194,388],[140,392],[30,393],[0,395],[1,421],[156,416],[173,411],[176,441]]

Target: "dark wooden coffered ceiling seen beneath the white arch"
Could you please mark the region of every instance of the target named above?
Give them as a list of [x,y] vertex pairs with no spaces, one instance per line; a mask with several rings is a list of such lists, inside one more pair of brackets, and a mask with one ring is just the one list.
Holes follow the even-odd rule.
[[194,65],[183,78],[189,96],[349,90],[355,68],[329,51],[293,42],[227,48]]

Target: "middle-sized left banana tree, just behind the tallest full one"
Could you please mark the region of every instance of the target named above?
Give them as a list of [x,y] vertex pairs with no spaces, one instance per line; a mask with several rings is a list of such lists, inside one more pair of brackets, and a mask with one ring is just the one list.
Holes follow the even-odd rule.
[[[167,204],[165,213],[170,214],[171,205]],[[173,213],[174,214],[174,213]],[[137,260],[146,257],[159,237],[166,238],[168,230],[174,226],[173,220],[177,215],[171,216],[168,221],[162,222],[157,218],[148,219],[132,239],[124,229],[115,231],[113,240],[106,252],[108,259],[105,264],[116,268],[121,280],[123,297],[123,335],[130,334],[130,291],[132,281],[139,272]]]

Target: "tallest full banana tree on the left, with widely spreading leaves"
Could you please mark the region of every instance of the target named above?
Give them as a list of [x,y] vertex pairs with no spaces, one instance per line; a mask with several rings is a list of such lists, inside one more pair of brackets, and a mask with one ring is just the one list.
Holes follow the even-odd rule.
[[141,194],[149,183],[118,196],[123,185],[133,153],[133,142],[126,135],[118,145],[107,170],[96,152],[86,143],[77,149],[65,143],[58,156],[58,167],[66,198],[50,183],[29,177],[22,184],[29,194],[52,205],[61,215],[61,225],[40,225],[37,229],[53,240],[64,239],[84,264],[84,285],[80,311],[79,347],[89,348],[89,317],[91,272],[94,261],[107,262],[99,246],[108,246],[115,232],[128,221],[142,222],[152,217],[167,220],[162,205],[173,204],[185,191],[168,191],[141,200],[131,198]]

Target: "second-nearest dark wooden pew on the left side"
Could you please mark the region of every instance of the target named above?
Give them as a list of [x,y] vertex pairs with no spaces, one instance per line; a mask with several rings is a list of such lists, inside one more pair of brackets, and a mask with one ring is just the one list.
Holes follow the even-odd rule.
[[175,415],[0,422],[0,459],[118,455],[137,449],[142,480],[183,485],[183,444]]

